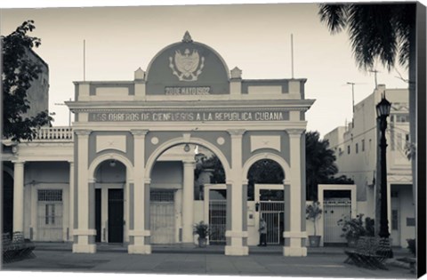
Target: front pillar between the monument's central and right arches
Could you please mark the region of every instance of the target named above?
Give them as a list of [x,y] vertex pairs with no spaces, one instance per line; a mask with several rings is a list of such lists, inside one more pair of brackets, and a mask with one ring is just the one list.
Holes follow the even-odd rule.
[[242,178],[242,138],[244,130],[229,131],[231,136],[231,163],[230,172],[231,178],[227,178],[227,211],[231,210],[231,216],[227,213],[228,218],[231,218],[230,229],[227,228],[225,236],[227,237],[227,245],[225,246],[225,254],[232,256],[244,256],[249,254],[249,247],[246,240],[247,231],[244,231],[244,207],[246,201],[243,201],[243,184]]

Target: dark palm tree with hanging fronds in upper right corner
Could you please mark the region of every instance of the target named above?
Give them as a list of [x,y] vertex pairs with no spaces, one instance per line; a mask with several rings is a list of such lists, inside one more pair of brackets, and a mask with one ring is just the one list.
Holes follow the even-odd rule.
[[[377,60],[390,71],[399,63],[409,71],[409,127],[413,195],[416,197],[416,18],[415,3],[320,4],[320,20],[332,34],[347,29],[354,58],[362,70],[372,69]],[[425,14],[425,13],[424,13]],[[414,200],[415,201],[415,200]]]

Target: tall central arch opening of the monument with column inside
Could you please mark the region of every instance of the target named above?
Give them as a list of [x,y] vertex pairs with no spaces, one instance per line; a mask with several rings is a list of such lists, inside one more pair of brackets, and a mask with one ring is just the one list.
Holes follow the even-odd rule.
[[[211,149],[194,142],[165,148],[152,164],[149,179],[150,244],[197,244],[199,236],[193,232],[200,221],[210,228],[208,240],[222,236],[219,244],[225,244],[227,205],[218,218],[205,201],[206,186],[225,182],[222,162]],[[211,205],[207,216],[206,204]]]

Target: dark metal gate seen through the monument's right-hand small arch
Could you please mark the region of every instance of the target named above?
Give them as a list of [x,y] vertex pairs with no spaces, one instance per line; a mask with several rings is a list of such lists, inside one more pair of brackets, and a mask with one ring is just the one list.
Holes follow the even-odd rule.
[[282,244],[285,229],[283,201],[261,201],[261,216],[267,223],[267,244]]

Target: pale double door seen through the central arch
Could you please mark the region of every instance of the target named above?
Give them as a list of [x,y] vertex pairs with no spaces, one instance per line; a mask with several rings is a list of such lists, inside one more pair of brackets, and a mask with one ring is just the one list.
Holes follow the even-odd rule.
[[149,228],[151,244],[175,243],[174,191],[153,189],[150,191]]

